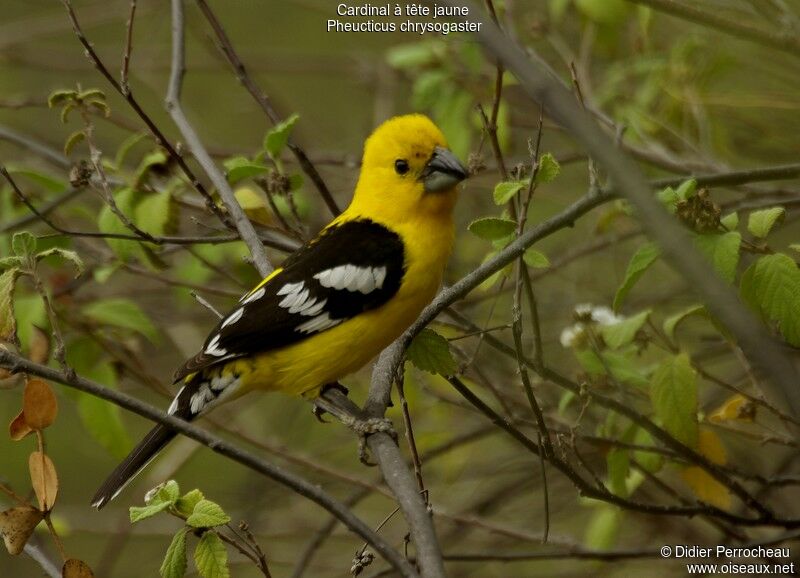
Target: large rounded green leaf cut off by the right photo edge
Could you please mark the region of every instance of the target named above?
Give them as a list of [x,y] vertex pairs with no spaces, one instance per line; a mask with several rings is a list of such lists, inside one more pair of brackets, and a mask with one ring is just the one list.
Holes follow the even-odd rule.
[[783,337],[800,347],[800,271],[788,255],[766,255],[742,275],[742,298],[778,325]]

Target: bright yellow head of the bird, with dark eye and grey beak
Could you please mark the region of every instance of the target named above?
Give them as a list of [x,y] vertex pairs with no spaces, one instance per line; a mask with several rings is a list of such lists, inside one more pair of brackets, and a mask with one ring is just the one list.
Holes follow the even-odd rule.
[[421,114],[396,116],[364,144],[361,175],[347,212],[386,224],[450,219],[467,171],[444,135]]

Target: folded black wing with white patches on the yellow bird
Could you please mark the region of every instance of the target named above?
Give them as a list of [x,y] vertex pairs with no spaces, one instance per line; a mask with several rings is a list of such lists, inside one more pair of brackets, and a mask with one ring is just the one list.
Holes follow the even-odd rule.
[[279,273],[242,297],[203,350],[175,373],[285,347],[375,309],[397,293],[403,241],[374,221],[346,221],[293,253]]

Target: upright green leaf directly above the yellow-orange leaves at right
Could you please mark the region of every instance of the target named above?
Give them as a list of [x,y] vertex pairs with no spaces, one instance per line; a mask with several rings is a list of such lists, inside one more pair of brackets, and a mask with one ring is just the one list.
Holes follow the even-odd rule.
[[697,446],[697,377],[689,356],[665,359],[653,374],[650,399],[664,429],[675,439]]

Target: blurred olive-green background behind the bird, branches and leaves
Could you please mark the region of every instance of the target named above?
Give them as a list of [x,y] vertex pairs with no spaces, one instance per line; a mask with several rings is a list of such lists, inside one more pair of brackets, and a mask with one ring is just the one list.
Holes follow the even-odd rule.
[[[299,115],[292,137],[317,166],[340,207],[346,206],[356,182],[364,138],[386,118],[423,112],[439,124],[454,151],[476,171],[461,193],[456,250],[447,283],[496,250],[491,242],[467,230],[477,218],[502,213],[502,207],[493,202],[492,191],[503,179],[477,108],[480,105],[491,114],[496,68],[473,38],[463,34],[326,32],[326,21],[337,18],[336,3],[327,0],[212,0],[209,4],[248,72],[281,117]],[[496,0],[494,4],[501,25],[518,42],[544,59],[565,84],[577,84],[587,108],[610,134],[617,135],[620,146],[640,162],[648,177],[684,177],[796,162],[800,153],[800,52],[745,41],[636,2]],[[800,4],[791,0],[686,4],[775,36],[797,38],[800,30]],[[74,8],[100,58],[118,76],[130,3],[75,0]],[[485,15],[485,5],[481,4],[480,10]],[[186,113],[220,165],[234,157],[254,159],[272,125],[237,82],[193,2],[186,3],[186,18]],[[131,89],[164,134],[178,142],[179,134],[163,106],[170,67],[167,3],[137,3],[132,46]],[[524,178],[531,162],[528,142],[536,139],[539,108],[509,75],[504,75],[502,82],[497,140],[509,172]],[[78,145],[67,160],[62,159],[65,140],[81,127],[81,120],[73,114],[62,123],[59,107],[50,109],[47,104],[53,91],[76,85],[105,92],[110,113],[107,117],[96,114],[92,122],[99,149],[110,161],[119,161],[109,167],[110,173],[124,180],[144,171],[151,184],[170,183],[172,169],[168,165],[144,162],[155,150],[153,142],[131,138],[144,134],[142,122],[84,56],[64,6],[55,1],[4,0],[0,161],[14,169],[36,203],[47,203],[68,188],[70,167],[88,158],[85,146]],[[34,145],[51,149],[52,154],[32,150]],[[588,159],[546,114],[540,150],[551,153],[561,171],[536,190],[528,213],[531,225],[569,206],[590,185]],[[280,162],[285,175],[300,174],[288,153]],[[602,171],[597,178],[604,182]],[[23,218],[27,210],[4,185],[0,187],[0,250],[5,255],[10,250],[11,232],[19,227],[3,225]],[[174,187],[169,206],[148,205],[137,213],[142,223],[151,218],[159,221],[161,233],[214,234],[219,223],[203,212],[202,199],[188,188],[169,186]],[[253,179],[243,178],[234,186],[257,224],[264,230],[280,231],[295,243],[330,219],[307,180],[294,182],[288,194],[276,197],[280,217],[269,210],[265,193]],[[746,212],[770,203],[785,207],[783,226],[770,237],[770,246],[785,248],[798,242],[793,212],[800,200],[796,181],[718,188],[711,195],[723,213]],[[96,230],[104,227],[102,206],[98,195],[83,193],[59,208],[58,219],[74,229]],[[51,232],[41,223],[25,228],[39,235]],[[545,261],[538,256],[532,259],[530,271],[549,364],[579,381],[585,377],[586,367],[561,343],[562,331],[574,323],[577,304],[611,306],[631,255],[643,243],[630,210],[623,203],[612,202],[536,245]],[[46,261],[42,275],[56,296],[68,358],[78,372],[166,407],[164,392],[171,388],[172,372],[196,351],[216,323],[190,292],[196,291],[224,311],[257,278],[243,260],[247,251],[240,243],[147,251],[130,249],[134,245],[127,243],[126,249],[96,239],[46,236],[40,239],[40,247],[68,246],[82,256],[89,270],[86,280],[76,282],[67,265]],[[283,255],[270,249],[276,262]],[[740,271],[748,264],[746,259],[742,257]],[[498,337],[512,343],[507,331],[512,287],[510,273],[505,278],[495,276],[462,301],[458,310],[479,327],[496,329]],[[630,293],[622,312],[632,315],[652,309],[660,327],[664,319],[696,302],[689,289],[666,265],[656,263]],[[114,322],[109,309],[124,310],[124,321]],[[33,326],[47,332],[48,324],[39,298],[27,283],[20,283],[17,289],[15,312],[24,351],[39,335]],[[479,336],[464,337],[470,332],[463,327],[441,324],[435,328],[452,339],[456,358],[473,389],[493,403],[502,400],[504,410],[519,418],[520,427],[535,435],[514,360],[498,356]],[[746,381],[737,357],[721,345],[720,333],[712,325],[689,320],[684,331],[682,345],[693,355],[706,355],[703,359],[709,371],[725,381]],[[530,346],[530,332],[526,330],[524,337]],[[653,349],[643,347],[631,354],[631,363],[645,376],[659,359],[659,351]],[[724,351],[720,353],[720,349]],[[368,381],[369,368],[347,380],[350,397],[363,401]],[[610,424],[603,408],[588,403],[582,407],[581,400],[565,396],[553,384],[537,379],[535,385],[548,419],[566,438],[575,431],[600,439],[621,436],[619,428],[623,426]],[[329,516],[287,489],[184,439],[163,452],[101,513],[90,509],[89,498],[97,485],[149,424],[67,388],[55,389],[60,413],[46,435],[48,453],[60,478],[53,519],[69,552],[87,561],[97,576],[157,575],[180,522],[159,516],[131,525],[128,507],[141,505],[147,489],[170,478],[177,480],[183,491],[200,488],[221,504],[234,522],[246,520],[267,554],[273,576],[299,576],[298,563]],[[445,554],[655,550],[662,544],[716,543],[732,536],[746,542],[773,535],[771,529],[737,527],[734,532],[703,517],[649,516],[582,500],[573,485],[550,468],[550,544],[543,546],[538,460],[494,429],[441,377],[409,364],[405,391]],[[7,423],[19,410],[21,390],[12,387],[0,395],[0,421]],[[730,395],[711,381],[703,381],[698,392],[701,419],[723,406]],[[402,428],[396,398],[389,417]],[[767,477],[795,475],[796,446],[781,429],[780,420],[766,416],[754,423],[740,422],[717,432],[732,467]],[[212,429],[219,424],[225,425],[223,435],[301,473],[341,500],[351,500],[355,512],[373,526],[395,508],[379,472],[358,462],[352,434],[337,423],[319,423],[305,401],[279,395],[251,397],[218,410],[203,423]],[[30,440],[0,441],[0,476],[22,494],[29,487],[25,464],[31,444]],[[604,480],[609,447],[597,440],[581,446],[583,459]],[[407,454],[402,436],[401,448]],[[691,487],[674,465],[665,465],[658,476],[684,499],[693,499]],[[637,488],[636,497],[642,501],[667,504],[675,500],[651,479],[640,480]],[[788,517],[798,513],[796,488],[793,484],[762,484],[757,490]],[[742,512],[736,510],[739,506],[731,507]],[[402,547],[405,532],[399,514],[381,530],[398,547]],[[352,556],[360,542],[340,525],[329,534],[308,559],[304,576],[350,575]],[[57,558],[45,532],[37,532],[35,539]],[[261,575],[235,551],[230,559],[233,576]],[[385,568],[378,559],[363,575],[392,575],[380,573]],[[448,568],[452,576],[481,578],[685,575],[681,563],[660,558],[452,561]],[[189,575],[192,571],[190,563]],[[24,555],[12,558],[5,551],[0,553],[3,576],[40,573]]]

